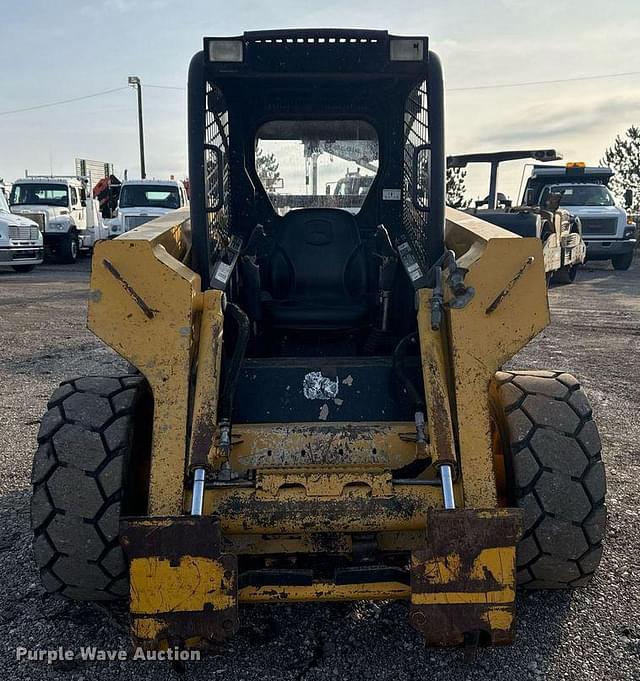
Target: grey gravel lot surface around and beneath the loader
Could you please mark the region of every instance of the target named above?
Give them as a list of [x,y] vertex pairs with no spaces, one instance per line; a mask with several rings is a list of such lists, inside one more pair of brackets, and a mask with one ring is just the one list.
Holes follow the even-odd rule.
[[[166,662],[47,664],[16,648],[128,649],[127,613],[46,598],[31,558],[28,486],[38,419],[64,378],[123,366],[85,328],[89,261],[0,271],[0,678],[173,679]],[[640,263],[585,268],[550,292],[551,326],[513,362],[572,371],[594,406],[609,483],[600,571],[573,593],[518,597],[516,643],[425,650],[404,603],[294,604],[242,609],[240,634],[189,663],[194,679],[640,679]]]

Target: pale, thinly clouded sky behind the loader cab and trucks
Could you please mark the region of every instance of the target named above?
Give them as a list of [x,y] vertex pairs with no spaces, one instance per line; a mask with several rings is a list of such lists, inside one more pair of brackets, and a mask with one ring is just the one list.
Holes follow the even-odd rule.
[[[445,69],[447,153],[556,148],[597,164],[616,134],[640,124],[640,75],[460,89],[640,71],[638,0],[0,0],[0,177],[71,174],[76,157],[139,176],[129,75],[144,88],[147,175],[185,177],[180,88],[202,37],[336,26],[429,36]],[[522,167],[501,169],[512,198]],[[487,176],[469,172],[470,198],[486,194]]]

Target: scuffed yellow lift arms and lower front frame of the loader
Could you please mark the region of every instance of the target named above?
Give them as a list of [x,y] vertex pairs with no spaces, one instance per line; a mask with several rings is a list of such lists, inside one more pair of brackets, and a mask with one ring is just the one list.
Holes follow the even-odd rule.
[[[410,436],[411,422],[237,423],[231,467],[255,477],[244,486],[208,486],[201,518],[188,516],[189,462],[198,451],[216,470],[224,458],[216,432],[223,294],[202,292],[185,264],[186,213],[96,246],[89,328],[138,368],[153,394],[147,516],[123,521],[138,638],[224,638],[236,628],[238,601],[403,598],[429,642],[460,643],[470,622],[493,642],[510,639],[521,517],[500,508],[491,386],[503,363],[548,324],[544,260],[539,240],[453,209],[446,243],[475,295],[465,307],[447,307],[434,331],[431,290],[417,292],[428,444]],[[448,289],[444,295],[446,304]],[[301,458],[305,450],[320,463]],[[329,456],[338,450],[339,464]],[[420,476],[424,484],[392,479],[391,469],[416,457],[457,462],[456,510],[442,510],[435,466]],[[185,518],[192,524],[184,536],[215,524],[213,550],[197,541],[176,545],[172,524]],[[363,537],[380,551],[410,552],[410,582],[238,581],[237,557],[349,555]]]

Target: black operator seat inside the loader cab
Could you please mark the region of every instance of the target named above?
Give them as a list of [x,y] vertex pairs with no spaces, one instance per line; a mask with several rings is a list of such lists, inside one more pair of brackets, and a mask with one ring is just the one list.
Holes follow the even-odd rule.
[[286,329],[348,329],[367,315],[367,262],[357,222],[336,208],[287,213],[266,264],[264,312]]

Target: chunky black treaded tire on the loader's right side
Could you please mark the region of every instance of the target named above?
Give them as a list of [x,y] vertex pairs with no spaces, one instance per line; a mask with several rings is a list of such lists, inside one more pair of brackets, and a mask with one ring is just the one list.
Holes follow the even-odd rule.
[[[524,510],[518,584],[567,589],[589,583],[606,529],[604,464],[578,381],[552,371],[496,374],[504,495]],[[499,476],[498,476],[499,477]]]

